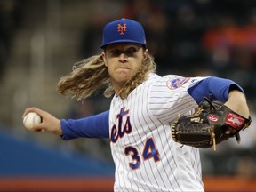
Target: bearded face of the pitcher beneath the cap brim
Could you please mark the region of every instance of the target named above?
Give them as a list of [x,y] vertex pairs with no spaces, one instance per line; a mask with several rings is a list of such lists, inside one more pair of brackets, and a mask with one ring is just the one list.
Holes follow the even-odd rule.
[[142,61],[148,56],[148,50],[143,49],[140,44],[110,44],[102,52],[102,56],[112,84],[115,90],[119,90],[140,70]]

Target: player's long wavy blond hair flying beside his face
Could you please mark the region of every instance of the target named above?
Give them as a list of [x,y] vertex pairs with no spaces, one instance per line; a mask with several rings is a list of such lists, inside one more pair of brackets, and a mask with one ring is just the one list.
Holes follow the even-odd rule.
[[[138,73],[124,84],[118,95],[124,100],[132,90],[147,80],[151,72],[156,72],[156,63],[148,54],[148,57],[142,61]],[[105,88],[105,97],[111,97],[115,93],[101,54],[75,63],[72,72],[68,76],[61,77],[57,84],[61,94],[70,95],[76,100],[84,100],[102,88]]]

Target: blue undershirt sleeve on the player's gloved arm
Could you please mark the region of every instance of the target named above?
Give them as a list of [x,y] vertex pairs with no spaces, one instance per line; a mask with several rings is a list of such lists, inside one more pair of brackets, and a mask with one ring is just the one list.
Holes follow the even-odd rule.
[[188,88],[188,93],[198,104],[204,100],[204,97],[208,97],[210,93],[212,93],[213,100],[226,102],[228,100],[228,93],[231,90],[244,92],[243,88],[232,80],[210,76]]

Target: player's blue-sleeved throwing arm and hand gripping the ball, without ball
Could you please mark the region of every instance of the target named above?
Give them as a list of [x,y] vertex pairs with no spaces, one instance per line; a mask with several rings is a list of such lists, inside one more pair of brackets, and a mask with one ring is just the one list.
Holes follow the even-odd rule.
[[58,119],[50,113],[39,108],[27,108],[23,117],[28,112],[35,112],[42,118],[42,123],[34,124],[35,132],[48,131],[60,135],[63,140],[71,140],[79,137],[84,138],[109,138],[108,115],[105,111],[95,116],[88,116],[81,119]]

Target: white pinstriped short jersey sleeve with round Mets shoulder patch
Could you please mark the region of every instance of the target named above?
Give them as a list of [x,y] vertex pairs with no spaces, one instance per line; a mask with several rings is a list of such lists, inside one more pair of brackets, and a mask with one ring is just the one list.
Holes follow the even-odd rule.
[[178,114],[182,116],[195,109],[198,105],[188,89],[204,78],[168,75],[154,79],[145,96],[148,97],[148,114],[162,124],[169,124]]

